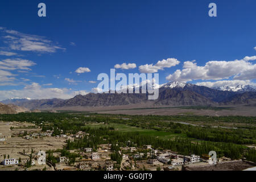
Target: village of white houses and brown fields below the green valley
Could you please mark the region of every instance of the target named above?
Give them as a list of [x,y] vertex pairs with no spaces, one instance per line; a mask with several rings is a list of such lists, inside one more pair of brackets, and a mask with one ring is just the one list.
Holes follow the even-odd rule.
[[[67,141],[88,137],[90,134],[78,131],[76,134],[60,134],[52,137],[52,130],[41,131],[31,123],[0,122],[0,170],[69,170],[69,171],[180,171],[183,166],[210,166],[209,155],[184,156],[171,150],[158,150],[151,145],[143,147],[120,147],[120,165],[111,160],[112,144],[100,144],[94,148],[69,150],[76,154],[71,163],[67,156],[61,155]],[[58,151],[59,150],[59,151]],[[47,151],[52,151],[54,159],[47,160]],[[219,158],[217,163],[232,162],[229,158]],[[29,165],[28,165],[29,163]]]

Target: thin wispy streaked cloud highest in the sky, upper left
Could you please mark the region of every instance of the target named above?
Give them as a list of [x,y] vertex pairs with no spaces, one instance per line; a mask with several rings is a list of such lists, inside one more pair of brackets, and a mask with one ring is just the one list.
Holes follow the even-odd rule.
[[35,52],[56,52],[57,49],[65,50],[57,43],[53,43],[51,40],[46,39],[43,36],[23,34],[15,30],[7,30],[6,28],[0,29],[5,39],[5,43],[10,49],[18,51],[35,51]]

